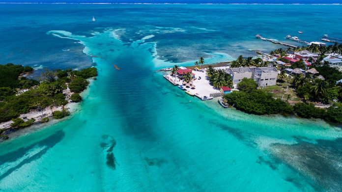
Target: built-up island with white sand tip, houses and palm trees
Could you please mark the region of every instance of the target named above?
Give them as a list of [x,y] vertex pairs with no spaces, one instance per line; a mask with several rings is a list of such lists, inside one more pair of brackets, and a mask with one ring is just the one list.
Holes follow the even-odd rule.
[[215,65],[203,57],[164,77],[201,100],[256,115],[283,114],[342,123],[342,45],[311,44]]

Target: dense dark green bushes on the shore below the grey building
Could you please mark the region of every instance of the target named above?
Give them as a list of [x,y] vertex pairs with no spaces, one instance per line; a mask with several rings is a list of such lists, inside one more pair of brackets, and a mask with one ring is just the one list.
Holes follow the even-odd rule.
[[280,99],[274,99],[271,93],[256,89],[254,80],[244,78],[238,83],[240,91],[225,95],[229,105],[238,110],[253,114],[291,114],[292,107]]

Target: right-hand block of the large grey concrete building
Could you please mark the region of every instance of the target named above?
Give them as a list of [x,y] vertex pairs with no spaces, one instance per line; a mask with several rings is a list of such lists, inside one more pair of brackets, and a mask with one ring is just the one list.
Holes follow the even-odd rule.
[[278,70],[276,67],[254,67],[252,69],[252,79],[258,86],[276,85]]

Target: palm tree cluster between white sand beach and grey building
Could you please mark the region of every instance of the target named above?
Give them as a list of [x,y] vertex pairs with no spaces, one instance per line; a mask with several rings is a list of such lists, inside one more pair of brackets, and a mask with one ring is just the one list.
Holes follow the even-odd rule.
[[209,82],[216,88],[221,88],[223,86],[231,87],[233,85],[231,76],[223,69],[215,70],[209,65],[206,74],[209,77]]

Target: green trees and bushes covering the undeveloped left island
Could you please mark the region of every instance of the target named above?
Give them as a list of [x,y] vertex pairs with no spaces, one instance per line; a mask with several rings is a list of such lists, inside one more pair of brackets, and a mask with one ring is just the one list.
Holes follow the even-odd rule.
[[[67,88],[67,83],[71,91],[79,93],[89,83],[85,78],[97,75],[96,68],[46,71],[38,82],[22,76],[31,71],[31,67],[22,65],[0,65],[0,122],[15,119],[30,110],[66,105],[62,92]],[[16,121],[20,122],[19,119]],[[20,124],[15,126],[22,127]]]

